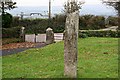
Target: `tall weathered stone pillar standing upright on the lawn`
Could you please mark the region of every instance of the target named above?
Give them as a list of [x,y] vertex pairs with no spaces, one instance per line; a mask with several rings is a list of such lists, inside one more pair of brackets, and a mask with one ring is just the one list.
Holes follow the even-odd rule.
[[69,78],[76,78],[79,9],[77,9],[76,1],[71,0],[68,3],[66,7],[67,18],[64,32],[64,75]]

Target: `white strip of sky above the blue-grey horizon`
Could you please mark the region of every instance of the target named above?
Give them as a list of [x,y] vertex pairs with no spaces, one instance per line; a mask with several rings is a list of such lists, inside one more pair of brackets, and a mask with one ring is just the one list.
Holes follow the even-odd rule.
[[[13,0],[17,6],[48,6],[49,0]],[[51,0],[52,6],[63,6],[66,0]],[[100,0],[78,0],[85,1],[85,4],[99,4]]]

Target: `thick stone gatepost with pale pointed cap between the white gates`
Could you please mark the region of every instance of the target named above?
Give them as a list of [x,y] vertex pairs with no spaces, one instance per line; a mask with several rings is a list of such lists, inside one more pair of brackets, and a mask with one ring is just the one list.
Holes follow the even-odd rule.
[[51,28],[46,30],[46,44],[54,43],[54,33]]

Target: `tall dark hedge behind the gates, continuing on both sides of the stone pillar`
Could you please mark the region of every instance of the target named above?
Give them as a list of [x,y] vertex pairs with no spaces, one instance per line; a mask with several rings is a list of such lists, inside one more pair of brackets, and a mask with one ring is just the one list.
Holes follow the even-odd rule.
[[[105,18],[103,16],[83,15],[79,17],[79,29],[97,30],[105,28]],[[50,23],[49,23],[50,22]],[[65,30],[66,15],[58,14],[48,19],[23,19],[14,17],[12,26],[24,26],[27,34],[45,33],[48,27],[51,27],[55,33],[61,33]]]

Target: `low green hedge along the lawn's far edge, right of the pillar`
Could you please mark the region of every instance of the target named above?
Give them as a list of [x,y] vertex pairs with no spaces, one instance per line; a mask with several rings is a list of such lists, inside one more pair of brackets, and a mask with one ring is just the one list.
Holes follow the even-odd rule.
[[80,38],[86,37],[120,37],[120,31],[101,31],[101,30],[80,30],[79,31]]

